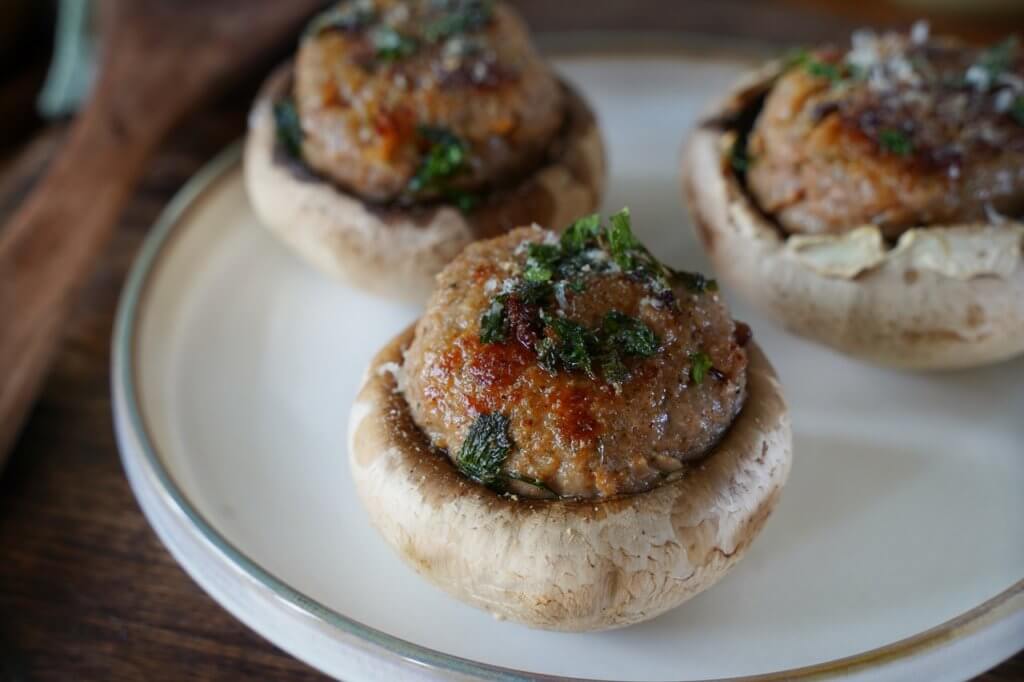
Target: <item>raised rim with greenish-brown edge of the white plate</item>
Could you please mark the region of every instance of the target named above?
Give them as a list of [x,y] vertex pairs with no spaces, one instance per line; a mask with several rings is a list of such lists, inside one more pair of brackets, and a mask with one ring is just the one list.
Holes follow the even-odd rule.
[[[657,44],[652,49],[650,49],[650,46],[651,43],[646,43],[638,47],[637,51],[638,53],[645,53],[647,55],[679,52],[678,49]],[[557,50],[555,51],[557,52]],[[692,54],[692,50],[687,49],[686,51]],[[568,56],[570,57],[575,55],[579,55],[579,52],[575,50],[568,52]],[[733,56],[735,56],[734,53]],[[742,57],[739,58],[741,59]],[[167,253],[167,247],[169,247],[177,233],[176,228],[182,224],[183,219],[189,211],[205,196],[212,191],[219,180],[228,177],[241,166],[241,160],[242,142],[236,141],[206,163],[175,193],[174,197],[158,216],[150,235],[146,236],[138,254],[135,256],[118,304],[112,337],[111,384],[112,391],[124,399],[115,401],[115,427],[118,435],[122,466],[126,474],[128,474],[136,502],[142,507],[151,525],[156,527],[154,519],[150,517],[150,513],[142,504],[144,493],[140,489],[140,483],[131,476],[130,469],[135,462],[130,462],[130,460],[138,458],[134,454],[134,449],[130,447],[126,442],[128,436],[137,441],[138,450],[142,454],[142,458],[140,458],[141,463],[159,485],[157,493],[161,497],[161,501],[176,514],[186,519],[194,531],[198,531],[200,539],[210,545],[221,557],[229,562],[232,569],[255,581],[287,606],[298,610],[307,617],[313,619],[319,625],[356,637],[362,643],[369,645],[374,654],[385,657],[397,656],[399,659],[413,664],[421,670],[425,668],[431,672],[456,673],[478,679],[523,681],[540,679],[564,682],[599,682],[592,678],[529,673],[527,671],[492,666],[464,658],[410,642],[344,615],[291,587],[232,545],[230,541],[221,535],[199,512],[184,492],[177,485],[170,471],[163,464],[159,449],[146,425],[138,398],[136,372],[138,358],[137,325],[141,317],[141,310],[145,307],[146,294],[150,289],[148,285],[159,268],[161,257]],[[122,407],[122,402],[124,407]],[[120,415],[121,410],[126,411],[126,414]],[[119,419],[119,417],[124,417],[125,419]],[[129,433],[122,434],[122,424],[124,428],[129,430]],[[169,550],[171,549],[168,541],[162,536],[161,541],[168,546]],[[171,553],[174,555],[174,552]],[[179,564],[182,564],[184,568],[183,563],[177,559],[176,555],[175,560]],[[196,582],[199,583],[199,581]],[[205,586],[201,585],[201,587],[204,591],[210,592]],[[224,607],[220,599],[215,598],[215,601],[218,602],[219,606]],[[702,682],[813,680],[839,675],[850,675],[866,670],[880,670],[891,664],[904,663],[955,641],[966,639],[983,629],[1006,623],[1011,616],[1022,611],[1024,611],[1024,579],[1019,580],[985,602],[944,623],[881,647],[800,668],[748,676],[716,678],[715,680],[705,680]],[[688,682],[699,681],[691,680]]]

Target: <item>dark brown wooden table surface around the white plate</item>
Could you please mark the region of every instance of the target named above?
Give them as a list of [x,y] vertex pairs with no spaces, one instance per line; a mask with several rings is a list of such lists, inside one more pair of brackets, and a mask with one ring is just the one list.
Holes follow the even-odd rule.
[[[783,16],[778,2],[694,0],[672,3],[668,15],[670,3],[654,11],[652,0],[591,2],[585,15],[578,3],[520,4],[542,29],[634,26],[806,41],[851,24],[805,8]],[[0,475],[0,681],[323,679],[237,622],[178,567],[132,498],[112,430],[110,339],[125,272],[167,201],[242,134],[257,84],[250,78],[189,118],[151,164]],[[0,166],[0,217],[61,136],[59,127],[46,129]],[[1024,680],[1024,654],[979,679]]]

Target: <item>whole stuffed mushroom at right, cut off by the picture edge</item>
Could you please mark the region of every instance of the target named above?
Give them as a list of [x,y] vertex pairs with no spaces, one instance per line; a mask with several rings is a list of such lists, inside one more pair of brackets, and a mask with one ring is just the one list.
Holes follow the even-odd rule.
[[691,137],[684,193],[721,278],[880,364],[1024,352],[1024,50],[854,34],[748,77]]

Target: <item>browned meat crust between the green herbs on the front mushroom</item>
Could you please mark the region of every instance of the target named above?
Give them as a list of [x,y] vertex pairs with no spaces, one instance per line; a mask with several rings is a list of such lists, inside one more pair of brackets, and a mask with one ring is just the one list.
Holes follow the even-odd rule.
[[[480,318],[503,282],[521,271],[526,245],[551,238],[524,227],[477,242],[438,275],[404,363],[417,423],[457,454],[479,414],[508,417],[515,446],[504,473],[543,484],[520,486],[521,495],[609,497],[684,475],[714,450],[745,396],[746,351],[724,302],[717,292],[676,284],[675,300],[666,304],[630,274],[591,275],[582,291],[566,288],[562,302],[551,301],[549,313],[596,329],[614,310],[651,330],[658,348],[649,357],[625,358],[630,377],[615,387],[597,375],[549,372],[540,365],[539,332],[529,322],[536,306],[514,297],[507,302],[517,332],[503,342],[480,341]],[[699,381],[692,377],[697,353],[711,364]]]

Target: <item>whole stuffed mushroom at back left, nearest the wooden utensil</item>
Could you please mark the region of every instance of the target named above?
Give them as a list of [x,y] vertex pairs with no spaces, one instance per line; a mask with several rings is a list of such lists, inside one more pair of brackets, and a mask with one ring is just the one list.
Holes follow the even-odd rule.
[[245,171],[257,216],[309,261],[422,299],[469,242],[594,210],[604,158],[504,3],[345,0],[264,85]]

